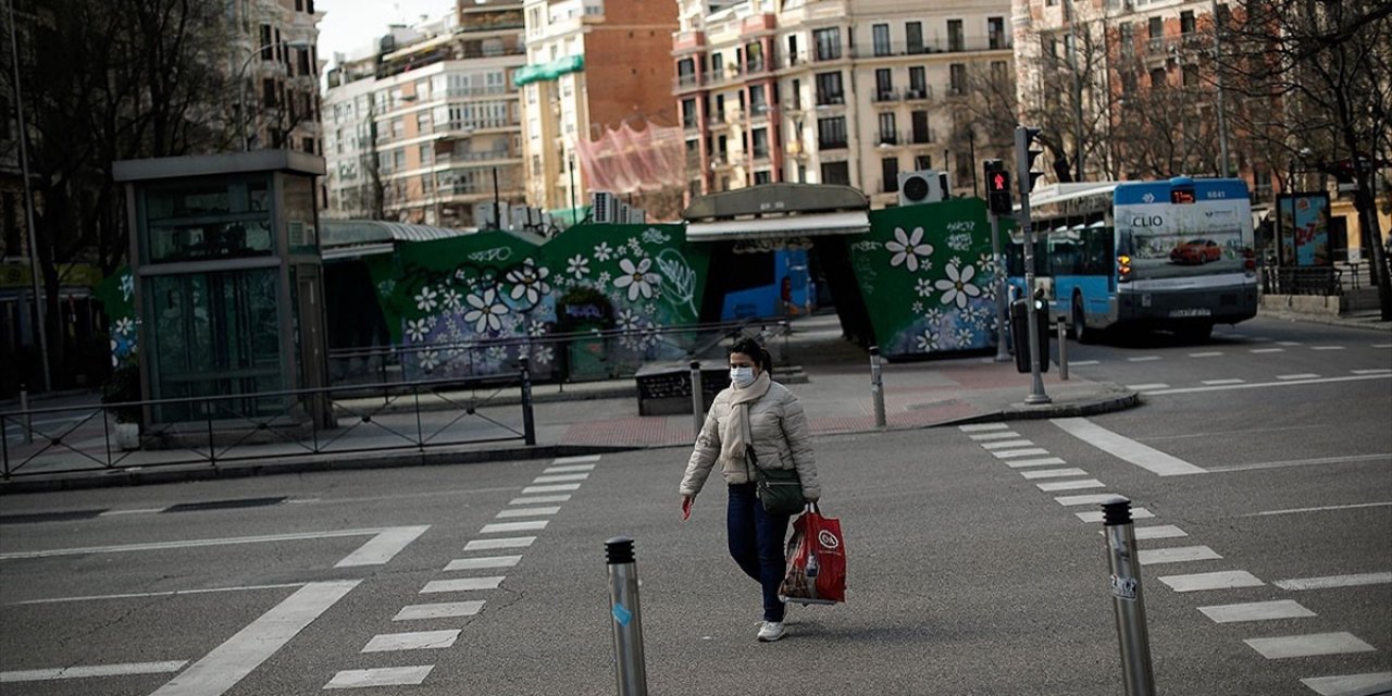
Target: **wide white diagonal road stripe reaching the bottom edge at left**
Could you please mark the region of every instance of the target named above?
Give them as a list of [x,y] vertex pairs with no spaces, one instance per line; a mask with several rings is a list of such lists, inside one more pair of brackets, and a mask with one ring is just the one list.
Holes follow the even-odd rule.
[[305,585],[150,696],[217,696],[227,692],[359,582],[362,580]]

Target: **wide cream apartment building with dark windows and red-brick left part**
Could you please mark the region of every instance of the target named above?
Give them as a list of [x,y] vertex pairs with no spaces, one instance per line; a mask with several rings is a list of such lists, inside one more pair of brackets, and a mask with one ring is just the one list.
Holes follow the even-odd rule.
[[970,192],[969,75],[1013,74],[1009,0],[679,1],[672,36],[689,196],[844,184],[883,207],[898,174]]

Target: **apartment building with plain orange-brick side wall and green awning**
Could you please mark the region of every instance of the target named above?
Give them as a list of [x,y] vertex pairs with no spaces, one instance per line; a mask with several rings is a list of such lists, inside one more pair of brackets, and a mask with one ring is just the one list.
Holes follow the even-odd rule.
[[[629,125],[672,127],[672,0],[526,0],[522,89],[528,203],[572,209],[589,199],[578,143]],[[633,205],[657,210],[647,196]]]

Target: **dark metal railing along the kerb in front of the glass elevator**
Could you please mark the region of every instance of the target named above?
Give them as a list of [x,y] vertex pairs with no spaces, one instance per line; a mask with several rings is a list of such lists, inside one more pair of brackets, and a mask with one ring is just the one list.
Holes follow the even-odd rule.
[[[503,398],[518,393],[519,400]],[[143,413],[146,418],[134,418]],[[168,422],[148,416],[161,415]],[[122,423],[143,420],[146,425]],[[189,397],[0,413],[0,476],[536,444],[528,361],[504,376]]]

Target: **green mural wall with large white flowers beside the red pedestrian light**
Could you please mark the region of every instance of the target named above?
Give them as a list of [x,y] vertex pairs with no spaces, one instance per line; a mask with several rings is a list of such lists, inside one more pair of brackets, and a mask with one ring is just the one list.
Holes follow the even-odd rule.
[[883,355],[995,345],[995,258],[983,200],[874,210],[870,232],[851,242],[851,263]]

